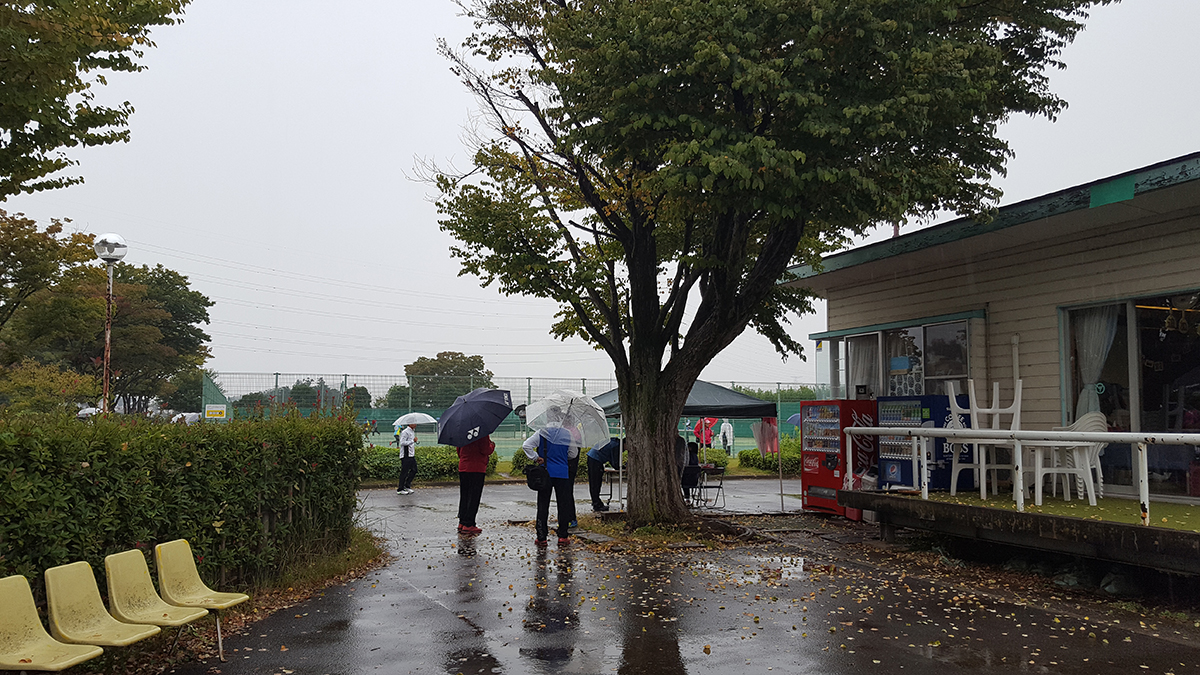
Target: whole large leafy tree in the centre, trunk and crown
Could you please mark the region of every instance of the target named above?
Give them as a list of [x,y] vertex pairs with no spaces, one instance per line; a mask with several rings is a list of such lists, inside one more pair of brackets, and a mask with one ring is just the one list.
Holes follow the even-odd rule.
[[436,172],[463,273],[557,300],[605,351],[631,444],[629,516],[688,518],[676,424],[748,327],[799,353],[791,264],[881,223],[983,214],[1014,113],[1108,0],[464,0],[443,44],[484,115]]

